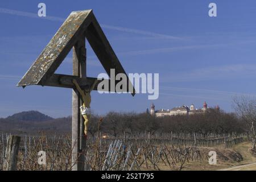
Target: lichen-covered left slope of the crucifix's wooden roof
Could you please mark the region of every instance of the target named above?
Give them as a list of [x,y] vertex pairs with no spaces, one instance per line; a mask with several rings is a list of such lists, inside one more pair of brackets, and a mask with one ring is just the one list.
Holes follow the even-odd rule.
[[[91,11],[74,11],[68,16],[26,75],[19,81],[18,86],[39,84],[56,59],[61,59],[59,57],[61,51],[68,45]],[[61,63],[63,60],[58,61]]]

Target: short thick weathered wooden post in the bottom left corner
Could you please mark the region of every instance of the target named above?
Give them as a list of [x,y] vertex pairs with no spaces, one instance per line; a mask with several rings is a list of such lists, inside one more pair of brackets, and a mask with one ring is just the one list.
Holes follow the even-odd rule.
[[9,135],[7,146],[6,146],[5,163],[3,166],[4,171],[16,170],[18,151],[19,151],[19,142],[20,142],[20,137]]

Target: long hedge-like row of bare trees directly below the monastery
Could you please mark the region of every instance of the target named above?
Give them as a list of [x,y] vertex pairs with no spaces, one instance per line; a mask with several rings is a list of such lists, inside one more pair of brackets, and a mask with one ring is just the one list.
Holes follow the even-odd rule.
[[[92,115],[89,132],[95,135],[100,117]],[[245,133],[241,119],[235,114],[209,109],[205,114],[175,115],[155,117],[147,113],[110,112],[102,119],[100,131],[116,137],[124,132],[140,134],[144,131],[154,133],[199,133],[209,134]]]

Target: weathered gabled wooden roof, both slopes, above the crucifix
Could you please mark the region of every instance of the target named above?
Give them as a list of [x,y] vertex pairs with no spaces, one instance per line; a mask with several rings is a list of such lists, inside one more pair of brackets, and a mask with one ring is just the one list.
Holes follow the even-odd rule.
[[[47,80],[53,75],[82,35],[85,35],[109,76],[110,69],[115,69],[116,75],[125,73],[127,76],[92,10],[73,11],[17,86],[47,85]],[[128,82],[131,84],[130,81]]]

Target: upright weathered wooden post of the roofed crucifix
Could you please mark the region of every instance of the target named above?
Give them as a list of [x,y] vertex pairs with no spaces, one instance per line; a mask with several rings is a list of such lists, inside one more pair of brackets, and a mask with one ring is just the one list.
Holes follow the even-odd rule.
[[[73,76],[86,77],[85,36],[73,47]],[[72,170],[84,171],[85,137],[84,119],[80,113],[81,97],[76,89],[72,91]]]

